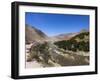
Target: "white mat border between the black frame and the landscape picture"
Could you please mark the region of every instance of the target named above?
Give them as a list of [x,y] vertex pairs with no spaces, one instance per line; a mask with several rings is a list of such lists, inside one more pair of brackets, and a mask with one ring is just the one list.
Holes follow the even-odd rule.
[[[90,65],[53,68],[25,68],[25,12],[90,15]],[[95,71],[95,12],[87,9],[19,6],[19,75],[40,75]]]

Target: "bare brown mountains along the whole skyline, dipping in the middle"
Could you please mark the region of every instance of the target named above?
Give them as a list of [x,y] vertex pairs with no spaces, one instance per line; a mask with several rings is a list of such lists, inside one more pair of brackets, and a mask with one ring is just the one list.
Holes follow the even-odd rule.
[[87,30],[83,29],[80,32],[76,32],[76,33],[65,33],[65,34],[59,34],[57,36],[53,36],[53,37],[49,37],[47,36],[44,32],[42,32],[41,30],[32,27],[30,25],[25,25],[25,41],[26,43],[32,43],[34,41],[36,42],[43,42],[43,41],[61,41],[61,40],[69,40],[72,37],[82,33],[82,32],[88,32]]

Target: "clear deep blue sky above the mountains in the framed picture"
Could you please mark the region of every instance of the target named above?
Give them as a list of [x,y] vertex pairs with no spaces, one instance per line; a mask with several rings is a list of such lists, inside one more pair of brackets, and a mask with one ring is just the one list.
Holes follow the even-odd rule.
[[25,24],[34,26],[48,36],[89,29],[89,15],[25,13]]

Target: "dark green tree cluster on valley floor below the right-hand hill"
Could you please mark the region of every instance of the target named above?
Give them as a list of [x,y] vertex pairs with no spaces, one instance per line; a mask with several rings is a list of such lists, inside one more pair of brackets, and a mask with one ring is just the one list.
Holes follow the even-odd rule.
[[59,41],[55,42],[59,48],[64,50],[71,50],[71,51],[89,51],[89,42],[77,42],[77,41]]

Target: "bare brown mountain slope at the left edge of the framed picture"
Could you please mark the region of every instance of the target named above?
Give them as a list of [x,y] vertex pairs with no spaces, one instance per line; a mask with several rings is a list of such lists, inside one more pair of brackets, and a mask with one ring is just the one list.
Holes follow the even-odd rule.
[[25,34],[26,44],[32,43],[34,41],[40,42],[48,39],[48,36],[41,30],[27,24],[25,25]]

